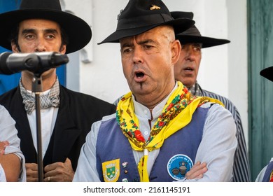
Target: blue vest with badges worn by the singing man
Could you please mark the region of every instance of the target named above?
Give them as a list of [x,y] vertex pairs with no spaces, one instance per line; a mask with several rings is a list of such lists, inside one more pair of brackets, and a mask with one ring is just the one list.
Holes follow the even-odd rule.
[[[208,111],[208,108],[197,108],[193,114],[193,119],[186,127],[165,139],[149,176],[151,182],[174,181],[168,173],[167,165],[175,155],[186,155],[193,163],[195,162]],[[119,167],[120,176],[118,181],[124,181],[125,179],[130,182],[140,181],[132,147],[127,137],[121,132],[116,118],[102,122],[99,128],[96,149],[97,172],[101,181],[104,181],[102,163],[117,159],[120,160],[120,165],[116,166],[116,169]],[[126,167],[123,167],[124,164]],[[177,169],[179,171],[179,165]]]

